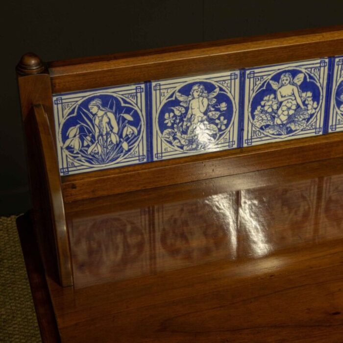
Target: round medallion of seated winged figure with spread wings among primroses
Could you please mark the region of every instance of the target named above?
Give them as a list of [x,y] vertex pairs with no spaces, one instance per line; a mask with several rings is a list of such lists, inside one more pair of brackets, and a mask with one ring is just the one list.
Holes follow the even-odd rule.
[[273,138],[292,136],[316,118],[322,102],[317,77],[302,68],[272,73],[254,91],[249,116],[252,125]]

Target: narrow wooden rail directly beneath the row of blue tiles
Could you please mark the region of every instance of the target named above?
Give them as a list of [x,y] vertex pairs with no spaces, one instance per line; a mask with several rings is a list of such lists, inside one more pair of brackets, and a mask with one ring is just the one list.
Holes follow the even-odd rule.
[[66,202],[343,156],[343,132],[62,177]]

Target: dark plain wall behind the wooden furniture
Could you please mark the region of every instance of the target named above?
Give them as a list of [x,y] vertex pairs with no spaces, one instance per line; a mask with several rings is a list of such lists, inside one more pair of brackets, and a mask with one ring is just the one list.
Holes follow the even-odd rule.
[[14,71],[23,53],[49,61],[343,24],[342,0],[11,2],[0,20],[0,215],[30,206]]

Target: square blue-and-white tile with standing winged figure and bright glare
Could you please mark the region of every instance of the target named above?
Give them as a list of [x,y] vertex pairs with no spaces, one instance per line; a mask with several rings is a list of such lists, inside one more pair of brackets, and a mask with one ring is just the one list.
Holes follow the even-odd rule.
[[239,146],[240,72],[151,82],[153,160]]

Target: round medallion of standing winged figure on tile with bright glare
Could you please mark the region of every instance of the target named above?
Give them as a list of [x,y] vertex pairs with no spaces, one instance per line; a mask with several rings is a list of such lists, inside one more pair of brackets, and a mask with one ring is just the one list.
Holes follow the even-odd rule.
[[229,130],[236,112],[232,95],[221,84],[193,80],[173,91],[156,116],[159,136],[184,152],[210,149]]

